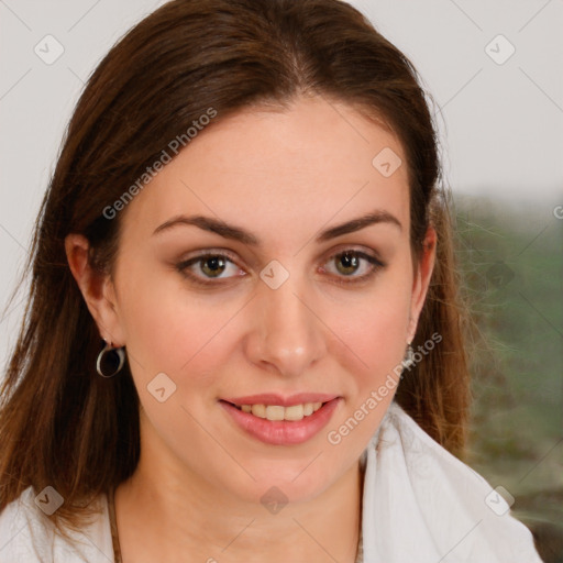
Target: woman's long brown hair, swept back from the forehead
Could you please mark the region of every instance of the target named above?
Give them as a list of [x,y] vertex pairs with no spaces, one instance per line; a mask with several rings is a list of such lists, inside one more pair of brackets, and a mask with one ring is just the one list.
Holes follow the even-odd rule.
[[288,108],[301,95],[352,104],[401,142],[415,266],[428,224],[438,232],[413,347],[434,333],[442,340],[404,377],[397,400],[461,455],[470,399],[464,309],[435,130],[415,68],[339,0],[175,0],[129,31],[89,78],[43,199],[24,272],[30,296],[1,390],[0,510],[26,487],[51,485],[65,499],[54,520],[78,528],[89,500],[139,461],[131,372],[125,363],[118,377],[96,373],[101,341],[65,236],[86,235],[92,266],[111,274],[120,214],[108,220],[102,210],[170,140],[208,108],[217,122],[255,104]]

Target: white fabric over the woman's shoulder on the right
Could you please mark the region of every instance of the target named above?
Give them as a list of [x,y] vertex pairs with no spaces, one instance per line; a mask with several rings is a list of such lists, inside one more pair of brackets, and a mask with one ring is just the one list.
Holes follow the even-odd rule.
[[363,463],[368,561],[541,563],[504,498],[395,401]]

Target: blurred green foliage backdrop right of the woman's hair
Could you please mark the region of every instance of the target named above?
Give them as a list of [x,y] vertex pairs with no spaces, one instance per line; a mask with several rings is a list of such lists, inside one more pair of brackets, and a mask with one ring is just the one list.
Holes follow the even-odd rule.
[[[563,203],[562,200],[559,205]],[[467,463],[516,499],[563,562],[563,219],[558,202],[455,196],[456,255],[477,327]]]

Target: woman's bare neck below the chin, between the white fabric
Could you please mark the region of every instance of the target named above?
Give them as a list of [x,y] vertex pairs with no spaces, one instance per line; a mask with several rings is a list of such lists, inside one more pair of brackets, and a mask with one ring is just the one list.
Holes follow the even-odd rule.
[[364,477],[360,461],[317,497],[266,509],[186,467],[155,472],[154,455],[142,452],[135,473],[115,490],[123,563],[355,562]]

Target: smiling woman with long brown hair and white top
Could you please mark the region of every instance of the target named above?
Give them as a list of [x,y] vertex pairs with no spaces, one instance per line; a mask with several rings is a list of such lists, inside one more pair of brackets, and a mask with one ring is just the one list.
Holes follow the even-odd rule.
[[37,221],[0,559],[541,561],[460,461],[439,176],[416,70],[344,2],[176,0],[131,30]]

